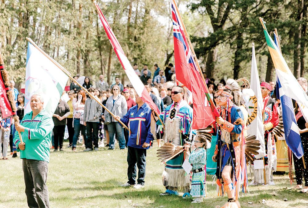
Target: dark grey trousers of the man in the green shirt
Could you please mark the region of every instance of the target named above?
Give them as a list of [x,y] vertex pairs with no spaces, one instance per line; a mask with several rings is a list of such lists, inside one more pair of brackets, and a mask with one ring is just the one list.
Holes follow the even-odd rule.
[[49,207],[46,185],[48,162],[22,159],[23,177],[26,185],[26,196],[29,207]]

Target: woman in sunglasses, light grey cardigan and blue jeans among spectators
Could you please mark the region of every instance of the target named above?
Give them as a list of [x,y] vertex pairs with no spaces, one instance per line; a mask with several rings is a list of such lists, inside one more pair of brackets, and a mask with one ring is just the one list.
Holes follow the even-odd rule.
[[[120,116],[121,118],[127,113],[127,102],[125,97],[120,93],[120,87],[115,84],[111,88],[112,96],[110,96],[106,102],[106,107],[111,113],[115,116]],[[109,132],[109,149],[115,148],[115,132],[118,136],[120,149],[125,149],[125,139],[124,139],[124,130],[122,125],[120,125],[109,112],[105,110],[104,113],[105,123],[107,122],[108,132]]]

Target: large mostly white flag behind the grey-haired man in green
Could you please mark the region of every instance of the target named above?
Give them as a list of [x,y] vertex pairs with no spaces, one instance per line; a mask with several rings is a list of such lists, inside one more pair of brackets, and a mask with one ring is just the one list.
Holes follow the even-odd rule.
[[[50,57],[50,59],[52,59]],[[30,98],[39,94],[44,109],[52,116],[63,93],[68,76],[30,42],[26,61],[25,113],[31,112]],[[61,66],[59,64],[59,66]]]

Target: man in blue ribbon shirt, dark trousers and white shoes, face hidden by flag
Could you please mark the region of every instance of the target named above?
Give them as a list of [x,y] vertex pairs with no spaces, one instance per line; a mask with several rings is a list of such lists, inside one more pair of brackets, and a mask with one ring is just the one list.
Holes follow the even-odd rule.
[[[134,186],[135,189],[140,189],[144,187],[145,157],[147,156],[147,149],[149,149],[150,142],[153,140],[153,135],[150,131],[151,108],[141,100],[137,93],[136,103],[137,105],[130,108],[122,119],[120,116],[114,116],[114,119],[117,121],[121,120],[125,125],[128,125],[131,131],[127,143],[128,182],[122,186]],[[136,166],[138,167],[137,184]]]

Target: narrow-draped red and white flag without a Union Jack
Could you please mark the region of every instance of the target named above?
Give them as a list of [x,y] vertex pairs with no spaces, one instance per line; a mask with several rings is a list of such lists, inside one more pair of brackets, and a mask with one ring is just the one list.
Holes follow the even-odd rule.
[[128,61],[122,47],[120,46],[119,41],[116,39],[115,34],[113,33],[111,27],[109,26],[105,16],[103,15],[103,12],[100,10],[97,3],[94,3],[96,10],[99,14],[99,18],[103,23],[103,27],[105,29],[105,32],[108,36],[108,39],[113,47],[113,50],[115,51],[115,54],[118,56],[118,59],[128,76],[129,81],[132,83],[133,87],[135,88],[138,96],[143,100],[145,103],[147,103],[155,112],[157,115],[160,115],[160,110],[158,109],[157,105],[154,104],[152,98],[150,97],[150,94],[144,87],[144,84],[141,82],[138,75],[136,75],[136,72],[132,68],[132,65]]

